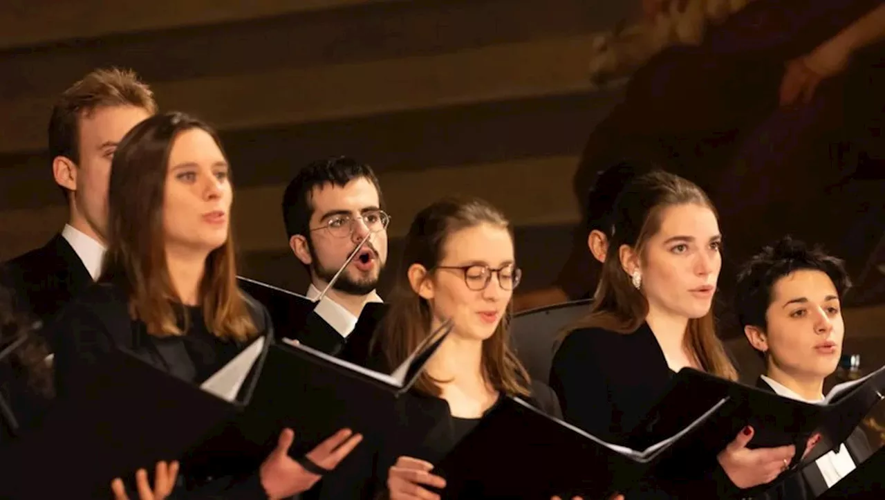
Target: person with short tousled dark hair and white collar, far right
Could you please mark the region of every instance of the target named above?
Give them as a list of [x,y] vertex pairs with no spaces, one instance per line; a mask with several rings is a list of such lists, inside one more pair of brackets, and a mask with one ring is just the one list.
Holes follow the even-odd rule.
[[[735,311],[747,341],[765,360],[757,386],[808,403],[823,401],[845,335],[840,299],[850,288],[840,259],[785,236],[738,275]],[[834,451],[769,489],[760,500],[822,495],[872,454],[860,428]]]

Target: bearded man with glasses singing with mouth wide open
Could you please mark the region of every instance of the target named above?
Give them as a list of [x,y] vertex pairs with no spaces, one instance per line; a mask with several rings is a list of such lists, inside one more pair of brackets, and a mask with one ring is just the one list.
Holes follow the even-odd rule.
[[310,274],[306,296],[311,300],[320,296],[368,236],[327,291],[326,300],[317,304],[315,312],[327,325],[309,321],[302,332],[291,335],[314,349],[336,353],[357,325],[364,306],[381,303],[375,288],[387,261],[390,218],[381,210],[378,178],[372,167],[353,158],[315,161],[289,182],[282,214],[289,248]]

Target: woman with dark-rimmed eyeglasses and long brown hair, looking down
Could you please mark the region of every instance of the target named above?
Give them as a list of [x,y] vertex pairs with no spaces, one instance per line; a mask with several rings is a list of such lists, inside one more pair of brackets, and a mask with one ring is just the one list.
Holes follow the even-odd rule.
[[404,396],[396,442],[375,442],[373,458],[343,464],[354,474],[340,481],[350,491],[324,486],[323,496],[439,498],[432,489],[444,488],[445,481],[431,472],[434,464],[504,395],[559,416],[550,388],[532,383],[509,347],[520,276],[512,227],[495,207],[449,198],[418,213],[374,342],[385,365],[396,366],[444,320],[452,319],[454,327]]

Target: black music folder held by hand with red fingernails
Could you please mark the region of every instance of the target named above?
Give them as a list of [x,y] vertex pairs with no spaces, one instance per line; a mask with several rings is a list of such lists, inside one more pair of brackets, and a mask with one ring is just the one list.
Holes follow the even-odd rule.
[[[692,415],[727,398],[723,411],[704,422],[696,439],[681,443],[694,450],[693,455],[686,454],[687,459],[691,456],[699,460],[715,457],[744,426],[749,425],[755,432],[748,444],[750,448],[794,444],[797,452],[790,468],[795,471],[845,442],[851,431],[881,401],[883,388],[885,366],[864,378],[836,385],[823,402],[811,404],[683,368],[673,377],[666,395],[630,433],[627,443],[631,448],[642,449],[686,427]],[[806,442],[815,433],[820,433],[820,442],[803,458]],[[680,468],[684,471],[690,467],[683,464]],[[667,471],[666,474],[678,474],[678,471]],[[785,475],[781,474],[781,478]]]

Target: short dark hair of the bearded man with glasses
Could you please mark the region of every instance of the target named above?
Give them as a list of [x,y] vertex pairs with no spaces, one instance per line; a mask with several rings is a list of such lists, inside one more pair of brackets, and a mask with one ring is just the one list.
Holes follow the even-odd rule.
[[348,157],[332,157],[314,161],[296,173],[282,196],[282,219],[286,224],[286,235],[308,235],[313,215],[311,193],[313,188],[327,184],[343,188],[350,181],[365,178],[372,182],[378,191],[378,200],[383,208],[381,185],[372,167]]

